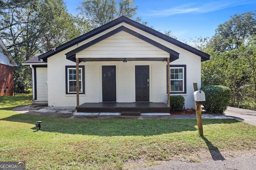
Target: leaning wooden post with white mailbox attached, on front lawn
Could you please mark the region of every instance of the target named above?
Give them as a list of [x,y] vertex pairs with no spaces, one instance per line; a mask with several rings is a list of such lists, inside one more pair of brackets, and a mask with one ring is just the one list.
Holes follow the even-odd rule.
[[196,121],[198,132],[201,136],[204,136],[203,124],[202,124],[202,114],[201,105],[205,101],[205,94],[202,90],[198,90],[197,83],[193,83],[194,87],[194,100],[196,104]]

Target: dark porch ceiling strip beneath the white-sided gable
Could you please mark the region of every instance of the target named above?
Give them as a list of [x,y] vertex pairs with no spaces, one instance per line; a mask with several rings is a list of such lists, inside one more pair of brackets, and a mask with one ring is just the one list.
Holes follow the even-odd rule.
[[79,58],[79,61],[167,61],[167,58]]

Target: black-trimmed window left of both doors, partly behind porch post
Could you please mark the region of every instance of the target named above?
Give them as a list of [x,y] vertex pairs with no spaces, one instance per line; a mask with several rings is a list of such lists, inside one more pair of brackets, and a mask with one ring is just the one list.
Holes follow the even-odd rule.
[[[79,94],[84,92],[84,66],[79,66]],[[76,94],[76,66],[66,66],[66,94]]]

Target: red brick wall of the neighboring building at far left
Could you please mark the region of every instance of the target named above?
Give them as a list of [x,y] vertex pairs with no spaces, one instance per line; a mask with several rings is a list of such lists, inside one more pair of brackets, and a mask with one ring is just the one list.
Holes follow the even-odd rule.
[[0,64],[0,96],[12,96],[13,88],[13,66]]

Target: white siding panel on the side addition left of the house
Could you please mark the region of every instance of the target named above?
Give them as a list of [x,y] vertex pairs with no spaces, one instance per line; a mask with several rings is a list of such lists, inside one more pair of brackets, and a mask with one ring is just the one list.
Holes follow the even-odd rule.
[[47,68],[36,68],[36,94],[38,101],[48,100]]

